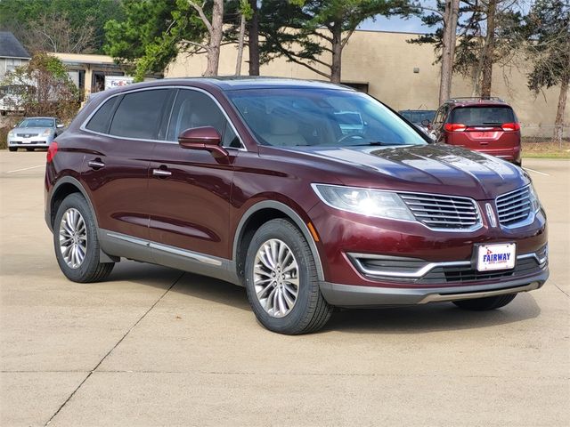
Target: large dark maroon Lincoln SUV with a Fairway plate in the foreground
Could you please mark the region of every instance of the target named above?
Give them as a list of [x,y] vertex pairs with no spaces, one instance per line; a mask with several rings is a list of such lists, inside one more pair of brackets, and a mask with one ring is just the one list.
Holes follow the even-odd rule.
[[549,274],[524,171],[309,81],[96,95],[50,146],[45,219],[71,280],[107,278],[121,258],[221,278],[283,334],[319,329],[335,306],[496,309]]

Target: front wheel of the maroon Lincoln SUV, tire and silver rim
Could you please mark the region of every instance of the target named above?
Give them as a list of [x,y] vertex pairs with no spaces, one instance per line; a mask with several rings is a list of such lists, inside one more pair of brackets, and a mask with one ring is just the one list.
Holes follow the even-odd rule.
[[265,222],[256,231],[246,258],[246,289],[257,320],[279,334],[317,331],[332,313],[311,249],[287,220]]

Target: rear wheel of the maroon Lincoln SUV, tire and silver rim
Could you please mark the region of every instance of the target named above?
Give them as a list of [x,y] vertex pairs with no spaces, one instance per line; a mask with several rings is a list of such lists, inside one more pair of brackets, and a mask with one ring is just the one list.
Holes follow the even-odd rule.
[[66,278],[90,283],[107,278],[113,262],[100,262],[100,246],[94,216],[78,193],[65,197],[53,223],[55,257]]

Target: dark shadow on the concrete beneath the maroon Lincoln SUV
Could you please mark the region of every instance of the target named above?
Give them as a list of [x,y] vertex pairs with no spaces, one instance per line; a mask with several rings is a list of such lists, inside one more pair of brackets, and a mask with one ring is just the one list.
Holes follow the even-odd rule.
[[[138,262],[121,264],[124,262],[119,264],[120,268],[113,271],[110,276],[111,281],[140,281],[145,285],[155,286],[154,280],[150,278],[159,278],[160,274],[170,274],[178,278],[171,292],[251,311],[243,287],[166,267]],[[168,286],[164,286],[163,281],[160,287],[165,287],[166,290]],[[461,310],[451,302],[396,308],[335,310],[319,333],[338,331],[355,334],[423,334],[505,325],[536,318],[540,313],[540,307],[529,293],[519,294],[506,307],[491,311]]]

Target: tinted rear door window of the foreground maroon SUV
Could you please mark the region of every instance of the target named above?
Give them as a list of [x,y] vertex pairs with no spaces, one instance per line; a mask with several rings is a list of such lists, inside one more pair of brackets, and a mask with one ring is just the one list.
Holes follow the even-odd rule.
[[156,139],[167,94],[167,89],[127,93],[115,112],[110,134],[144,140]]

